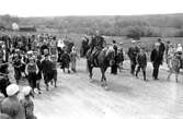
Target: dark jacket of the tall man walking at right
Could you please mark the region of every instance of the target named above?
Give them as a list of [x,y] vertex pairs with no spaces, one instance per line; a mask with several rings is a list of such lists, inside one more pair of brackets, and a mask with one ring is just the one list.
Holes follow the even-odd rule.
[[162,63],[162,59],[161,58],[162,57],[161,57],[161,52],[160,51],[158,51],[157,49],[153,49],[151,51],[150,61],[152,63],[159,63],[159,64],[161,64]]

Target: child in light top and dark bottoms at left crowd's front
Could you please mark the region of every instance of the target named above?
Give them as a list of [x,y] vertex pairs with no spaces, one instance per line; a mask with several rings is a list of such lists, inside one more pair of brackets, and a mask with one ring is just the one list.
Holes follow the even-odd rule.
[[27,81],[30,86],[34,90],[36,87],[36,80],[38,73],[38,68],[34,57],[30,58],[30,62],[25,67],[25,73],[27,74]]

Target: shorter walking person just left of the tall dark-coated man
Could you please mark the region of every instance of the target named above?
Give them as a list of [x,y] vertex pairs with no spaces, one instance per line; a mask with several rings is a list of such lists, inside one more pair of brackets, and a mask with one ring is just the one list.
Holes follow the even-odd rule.
[[145,48],[140,47],[140,51],[137,55],[137,71],[136,71],[136,78],[138,78],[138,73],[140,69],[142,70],[144,81],[147,81],[146,79],[146,68],[147,68],[147,53],[145,51]]

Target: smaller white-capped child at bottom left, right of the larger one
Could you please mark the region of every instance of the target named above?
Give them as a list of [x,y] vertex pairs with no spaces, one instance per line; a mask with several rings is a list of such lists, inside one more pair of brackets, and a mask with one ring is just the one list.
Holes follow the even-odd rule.
[[21,99],[21,104],[25,110],[25,118],[26,119],[37,119],[34,116],[34,104],[33,100],[31,99],[32,94],[32,87],[31,86],[25,86],[22,90],[24,98]]

